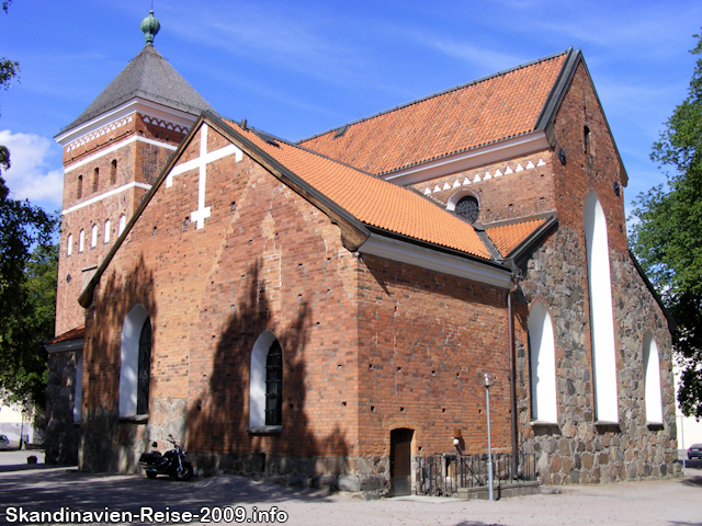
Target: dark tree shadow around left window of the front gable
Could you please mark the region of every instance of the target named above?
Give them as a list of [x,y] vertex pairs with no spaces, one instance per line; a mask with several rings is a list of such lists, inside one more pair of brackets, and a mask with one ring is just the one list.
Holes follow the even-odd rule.
[[94,298],[86,311],[79,464],[91,471],[136,471],[148,439],[145,423],[120,420],[121,331],[137,304],[151,319],[158,313],[154,272],[141,256],[126,274],[103,275]]

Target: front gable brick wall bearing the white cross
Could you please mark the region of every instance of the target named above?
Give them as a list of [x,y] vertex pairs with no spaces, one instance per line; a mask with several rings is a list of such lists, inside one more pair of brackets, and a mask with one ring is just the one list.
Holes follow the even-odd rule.
[[[210,151],[225,146],[208,138]],[[199,152],[196,134],[182,161]],[[120,331],[140,302],[154,328],[151,428],[169,400],[186,399],[193,451],[355,454],[358,261],[324,214],[246,156],[207,165],[212,216],[200,230],[188,220],[197,185],[196,170],[163,184],[102,277],[87,328],[87,413],[117,411]],[[246,432],[264,330],[283,348],[281,436]]]

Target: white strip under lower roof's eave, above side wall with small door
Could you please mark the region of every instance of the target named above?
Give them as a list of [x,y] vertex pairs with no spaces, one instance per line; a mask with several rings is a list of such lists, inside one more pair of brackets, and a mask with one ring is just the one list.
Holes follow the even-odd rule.
[[500,270],[456,255],[444,254],[404,241],[385,238],[376,233],[359,248],[359,252],[386,258],[430,271],[443,272],[452,276],[465,277],[501,288],[512,288],[512,274],[508,268]]

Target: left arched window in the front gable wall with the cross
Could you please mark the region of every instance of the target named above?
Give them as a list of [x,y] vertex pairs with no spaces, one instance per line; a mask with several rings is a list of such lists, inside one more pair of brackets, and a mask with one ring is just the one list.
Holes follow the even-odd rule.
[[151,378],[151,320],[136,305],[122,324],[120,416],[148,414]]

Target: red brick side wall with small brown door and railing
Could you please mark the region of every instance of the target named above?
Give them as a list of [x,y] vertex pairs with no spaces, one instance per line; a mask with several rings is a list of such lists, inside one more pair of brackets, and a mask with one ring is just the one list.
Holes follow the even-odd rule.
[[510,444],[506,290],[364,255],[359,274],[359,413],[363,455],[389,455],[390,430],[415,430],[415,454],[487,453]]

